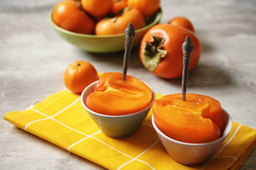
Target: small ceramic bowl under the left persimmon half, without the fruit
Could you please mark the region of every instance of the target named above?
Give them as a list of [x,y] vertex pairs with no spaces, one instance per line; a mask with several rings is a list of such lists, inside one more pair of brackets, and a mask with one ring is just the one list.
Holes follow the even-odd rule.
[[154,90],[145,83],[153,92],[153,98],[149,106],[144,108],[142,111],[129,115],[102,115],[100,113],[96,113],[95,111],[90,110],[85,105],[86,98],[94,91],[96,83],[97,81],[93,82],[92,84],[87,86],[84,91],[82,91],[81,103],[87,113],[89,113],[90,118],[92,118],[92,120],[97,124],[100,130],[105,135],[114,138],[128,137],[137,132],[140,125],[142,125],[143,120],[146,118],[146,115],[149,113],[152,104],[154,103],[154,99],[156,98]]

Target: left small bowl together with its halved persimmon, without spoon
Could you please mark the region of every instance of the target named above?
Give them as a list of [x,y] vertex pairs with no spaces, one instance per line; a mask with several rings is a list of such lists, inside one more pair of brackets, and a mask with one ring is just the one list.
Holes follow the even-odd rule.
[[100,78],[82,91],[83,108],[109,137],[128,137],[137,132],[154,102],[155,93],[148,84],[134,77],[128,79]]

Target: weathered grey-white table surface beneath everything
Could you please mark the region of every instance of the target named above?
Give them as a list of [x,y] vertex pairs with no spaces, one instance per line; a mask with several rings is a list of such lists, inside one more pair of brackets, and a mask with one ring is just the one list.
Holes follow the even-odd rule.
[[[58,2],[0,1],[0,169],[104,169],[3,119],[64,89],[63,72],[75,60],[98,72],[122,72],[124,52],[84,52],[58,36],[49,21]],[[161,23],[186,16],[203,45],[187,92],[212,96],[234,121],[256,129],[256,1],[161,0],[161,6]],[[181,92],[181,79],[161,79],[142,67],[138,47],[127,74],[160,94]],[[241,169],[256,169],[255,149]]]

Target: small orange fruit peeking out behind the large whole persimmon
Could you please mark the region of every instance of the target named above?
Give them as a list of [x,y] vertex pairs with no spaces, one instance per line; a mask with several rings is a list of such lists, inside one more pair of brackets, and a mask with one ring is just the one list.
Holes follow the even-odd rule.
[[182,26],[183,28],[187,28],[188,30],[191,30],[193,33],[196,33],[193,24],[186,17],[177,16],[172,18],[168,23],[173,24],[175,26]]

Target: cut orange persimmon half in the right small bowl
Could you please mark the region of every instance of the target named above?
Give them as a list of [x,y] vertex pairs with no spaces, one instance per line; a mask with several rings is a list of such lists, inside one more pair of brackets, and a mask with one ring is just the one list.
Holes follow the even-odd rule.
[[200,94],[170,94],[154,101],[152,106],[157,127],[174,140],[205,143],[218,140],[224,115],[220,103]]

